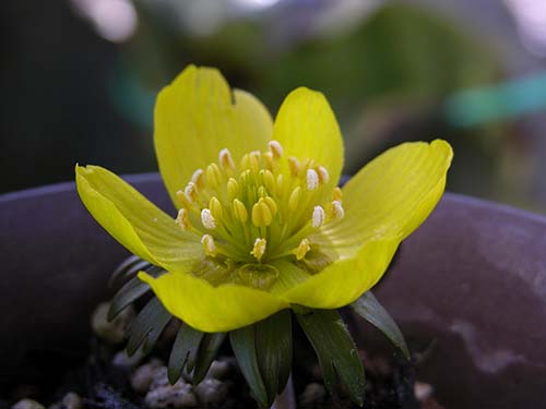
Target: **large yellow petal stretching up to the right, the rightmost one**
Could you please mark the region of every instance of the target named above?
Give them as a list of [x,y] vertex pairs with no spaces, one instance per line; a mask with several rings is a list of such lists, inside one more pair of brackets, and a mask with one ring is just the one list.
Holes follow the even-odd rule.
[[343,188],[345,217],[324,226],[322,233],[342,258],[368,240],[403,240],[440,200],[452,156],[451,146],[441,140],[387,151]]

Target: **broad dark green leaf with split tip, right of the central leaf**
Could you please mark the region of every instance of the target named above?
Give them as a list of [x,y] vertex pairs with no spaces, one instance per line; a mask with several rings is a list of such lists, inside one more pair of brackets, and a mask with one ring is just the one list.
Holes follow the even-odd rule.
[[363,362],[337,311],[314,310],[296,316],[317,352],[327,388],[333,393],[337,372],[351,399],[361,406],[366,389]]

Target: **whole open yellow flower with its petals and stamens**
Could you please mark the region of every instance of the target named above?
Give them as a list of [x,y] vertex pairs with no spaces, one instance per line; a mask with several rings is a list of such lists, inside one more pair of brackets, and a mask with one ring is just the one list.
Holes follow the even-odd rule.
[[295,89],[273,123],[195,67],[159,93],[154,141],[177,215],[96,166],[76,167],[78,191],[116,240],[168,272],[139,277],[203,332],[355,301],[432,210],[452,158],[444,141],[402,144],[340,190],[343,141],[321,93]]

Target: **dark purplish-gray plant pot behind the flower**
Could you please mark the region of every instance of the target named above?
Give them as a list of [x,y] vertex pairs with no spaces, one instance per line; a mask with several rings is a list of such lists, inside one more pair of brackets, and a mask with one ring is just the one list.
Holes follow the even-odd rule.
[[[174,214],[159,177],[127,178]],[[0,196],[0,386],[36,351],[84,354],[88,316],[128,252],[73,183]],[[423,352],[417,380],[450,408],[537,408],[546,386],[546,218],[447,193],[401,246],[377,298]],[[389,350],[355,329],[365,348]]]

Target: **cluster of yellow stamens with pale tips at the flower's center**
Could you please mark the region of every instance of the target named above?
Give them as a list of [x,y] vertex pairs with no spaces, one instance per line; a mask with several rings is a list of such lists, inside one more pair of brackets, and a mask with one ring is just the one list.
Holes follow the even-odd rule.
[[201,237],[207,257],[230,263],[301,261],[312,234],[344,216],[342,193],[313,159],[285,157],[277,141],[236,164],[228,149],[177,192],[176,222]]

